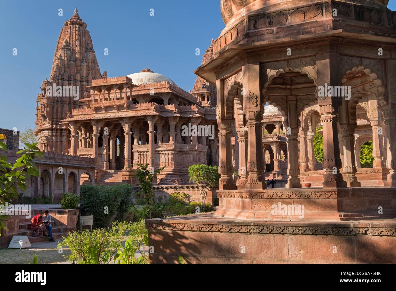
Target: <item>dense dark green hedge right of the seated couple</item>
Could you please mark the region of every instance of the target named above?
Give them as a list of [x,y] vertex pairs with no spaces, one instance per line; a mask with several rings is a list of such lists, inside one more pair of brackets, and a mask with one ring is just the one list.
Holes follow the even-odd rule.
[[[122,218],[128,211],[132,185],[81,185],[81,208],[93,215],[93,227],[108,227],[114,215]],[[129,192],[129,193],[128,193]]]

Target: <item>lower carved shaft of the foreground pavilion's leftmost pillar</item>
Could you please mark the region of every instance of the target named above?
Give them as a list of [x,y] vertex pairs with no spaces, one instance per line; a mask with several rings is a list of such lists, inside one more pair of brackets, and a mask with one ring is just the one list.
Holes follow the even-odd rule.
[[231,123],[219,123],[219,190],[236,189],[234,179],[232,178],[232,154],[231,154]]

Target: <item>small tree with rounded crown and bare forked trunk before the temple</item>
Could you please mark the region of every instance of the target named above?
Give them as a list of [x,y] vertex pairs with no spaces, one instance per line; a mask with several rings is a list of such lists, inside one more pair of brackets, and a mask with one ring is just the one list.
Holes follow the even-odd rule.
[[188,167],[188,177],[190,177],[190,182],[198,185],[201,192],[202,209],[204,209],[209,190],[219,187],[219,168],[204,164],[192,165]]

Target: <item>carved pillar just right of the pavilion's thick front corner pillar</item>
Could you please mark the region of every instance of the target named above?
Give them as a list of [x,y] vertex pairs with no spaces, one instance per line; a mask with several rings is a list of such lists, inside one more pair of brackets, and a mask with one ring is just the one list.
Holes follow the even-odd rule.
[[354,132],[355,126],[341,125],[341,133],[344,145],[343,177],[347,187],[360,187],[360,183],[356,177]]

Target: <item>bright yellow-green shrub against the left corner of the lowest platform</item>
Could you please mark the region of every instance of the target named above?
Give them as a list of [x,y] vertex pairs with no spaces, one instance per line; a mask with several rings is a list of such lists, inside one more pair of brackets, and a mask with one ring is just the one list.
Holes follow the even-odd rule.
[[[126,240],[124,247],[120,247],[114,256],[117,264],[148,264],[148,257],[142,246],[148,246],[148,230],[145,221],[128,224],[127,232],[130,236]],[[135,252],[139,251],[140,257],[135,257]]]

